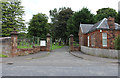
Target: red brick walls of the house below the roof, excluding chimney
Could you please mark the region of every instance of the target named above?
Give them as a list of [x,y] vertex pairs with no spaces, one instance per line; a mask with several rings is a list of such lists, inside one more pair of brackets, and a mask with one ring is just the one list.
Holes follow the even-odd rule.
[[[103,47],[102,45],[102,33],[107,33],[107,47]],[[91,46],[91,35],[95,35],[95,46]],[[105,49],[114,49],[114,40],[115,37],[120,35],[120,31],[117,30],[96,30],[88,34],[82,34],[81,30],[79,32],[79,44],[83,46],[88,46],[88,36],[89,36],[89,44],[90,47],[93,48],[105,48]],[[81,40],[82,37],[82,40]]]

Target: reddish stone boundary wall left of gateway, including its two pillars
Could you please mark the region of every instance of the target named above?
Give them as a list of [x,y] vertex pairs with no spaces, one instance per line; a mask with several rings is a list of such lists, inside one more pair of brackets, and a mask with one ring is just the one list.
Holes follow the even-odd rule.
[[[30,53],[37,53],[40,51],[50,51],[50,39],[51,35],[47,34],[46,46],[33,46],[32,48],[19,49],[18,46],[18,32],[16,28],[11,32],[11,37],[1,37],[0,44],[2,44],[2,52],[0,54],[7,55],[8,57],[14,57],[18,55],[28,55]],[[0,47],[1,48],[1,47]]]

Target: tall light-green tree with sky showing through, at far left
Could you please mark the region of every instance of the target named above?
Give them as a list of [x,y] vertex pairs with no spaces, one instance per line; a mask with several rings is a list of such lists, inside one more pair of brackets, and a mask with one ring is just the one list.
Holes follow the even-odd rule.
[[4,1],[1,2],[2,7],[2,36],[10,36],[10,33],[15,27],[17,31],[25,31],[26,26],[22,16],[24,14],[23,6],[21,6],[21,1]]

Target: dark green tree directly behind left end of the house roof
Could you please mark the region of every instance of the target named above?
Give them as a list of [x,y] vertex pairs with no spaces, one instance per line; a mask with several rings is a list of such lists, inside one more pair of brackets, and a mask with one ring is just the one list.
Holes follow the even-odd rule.
[[72,17],[67,21],[67,36],[74,35],[74,39],[77,40],[80,23],[82,24],[94,24],[94,15],[87,9],[82,8],[80,11],[75,12]]

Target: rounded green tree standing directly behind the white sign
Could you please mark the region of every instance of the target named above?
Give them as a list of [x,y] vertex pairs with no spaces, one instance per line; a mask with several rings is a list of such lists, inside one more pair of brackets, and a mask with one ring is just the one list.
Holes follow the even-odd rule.
[[33,15],[28,27],[29,36],[46,38],[48,32],[48,17],[45,14],[38,13]]

